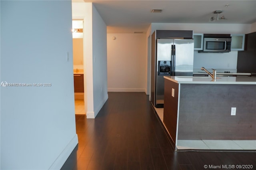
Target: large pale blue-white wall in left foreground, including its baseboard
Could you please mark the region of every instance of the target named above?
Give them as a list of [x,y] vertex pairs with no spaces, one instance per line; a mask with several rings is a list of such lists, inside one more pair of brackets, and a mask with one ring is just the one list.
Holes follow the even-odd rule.
[[52,84],[0,88],[1,169],[60,169],[78,143],[71,0],[0,3],[0,81]]

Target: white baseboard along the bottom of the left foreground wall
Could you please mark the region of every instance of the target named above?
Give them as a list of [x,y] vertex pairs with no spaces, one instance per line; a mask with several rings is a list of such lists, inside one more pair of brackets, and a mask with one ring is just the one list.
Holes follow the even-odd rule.
[[68,156],[70,156],[71,152],[74,150],[77,144],[78,144],[78,137],[76,134],[68,143],[66,148],[64,148],[64,150],[60,153],[58,158],[56,158],[52,166],[50,166],[49,170],[60,170],[60,168],[62,168],[62,166],[68,159]]

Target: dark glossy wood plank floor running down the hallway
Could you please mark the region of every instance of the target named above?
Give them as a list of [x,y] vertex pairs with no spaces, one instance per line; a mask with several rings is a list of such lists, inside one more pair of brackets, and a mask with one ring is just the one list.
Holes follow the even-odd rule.
[[76,115],[78,146],[62,170],[204,170],[204,165],[238,164],[256,169],[256,152],[175,151],[145,93],[108,97],[96,119]]

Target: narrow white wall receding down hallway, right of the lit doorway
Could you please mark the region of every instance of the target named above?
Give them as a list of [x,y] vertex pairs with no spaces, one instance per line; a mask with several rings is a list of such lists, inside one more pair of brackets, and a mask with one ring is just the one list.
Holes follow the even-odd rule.
[[92,6],[92,61],[94,117],[108,99],[107,26]]

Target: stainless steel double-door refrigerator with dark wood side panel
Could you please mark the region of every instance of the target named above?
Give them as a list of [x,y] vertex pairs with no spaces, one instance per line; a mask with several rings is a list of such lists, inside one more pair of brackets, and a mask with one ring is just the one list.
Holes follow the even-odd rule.
[[164,76],[193,76],[194,40],[158,38],[155,42],[152,49],[151,102],[154,107],[164,107]]

